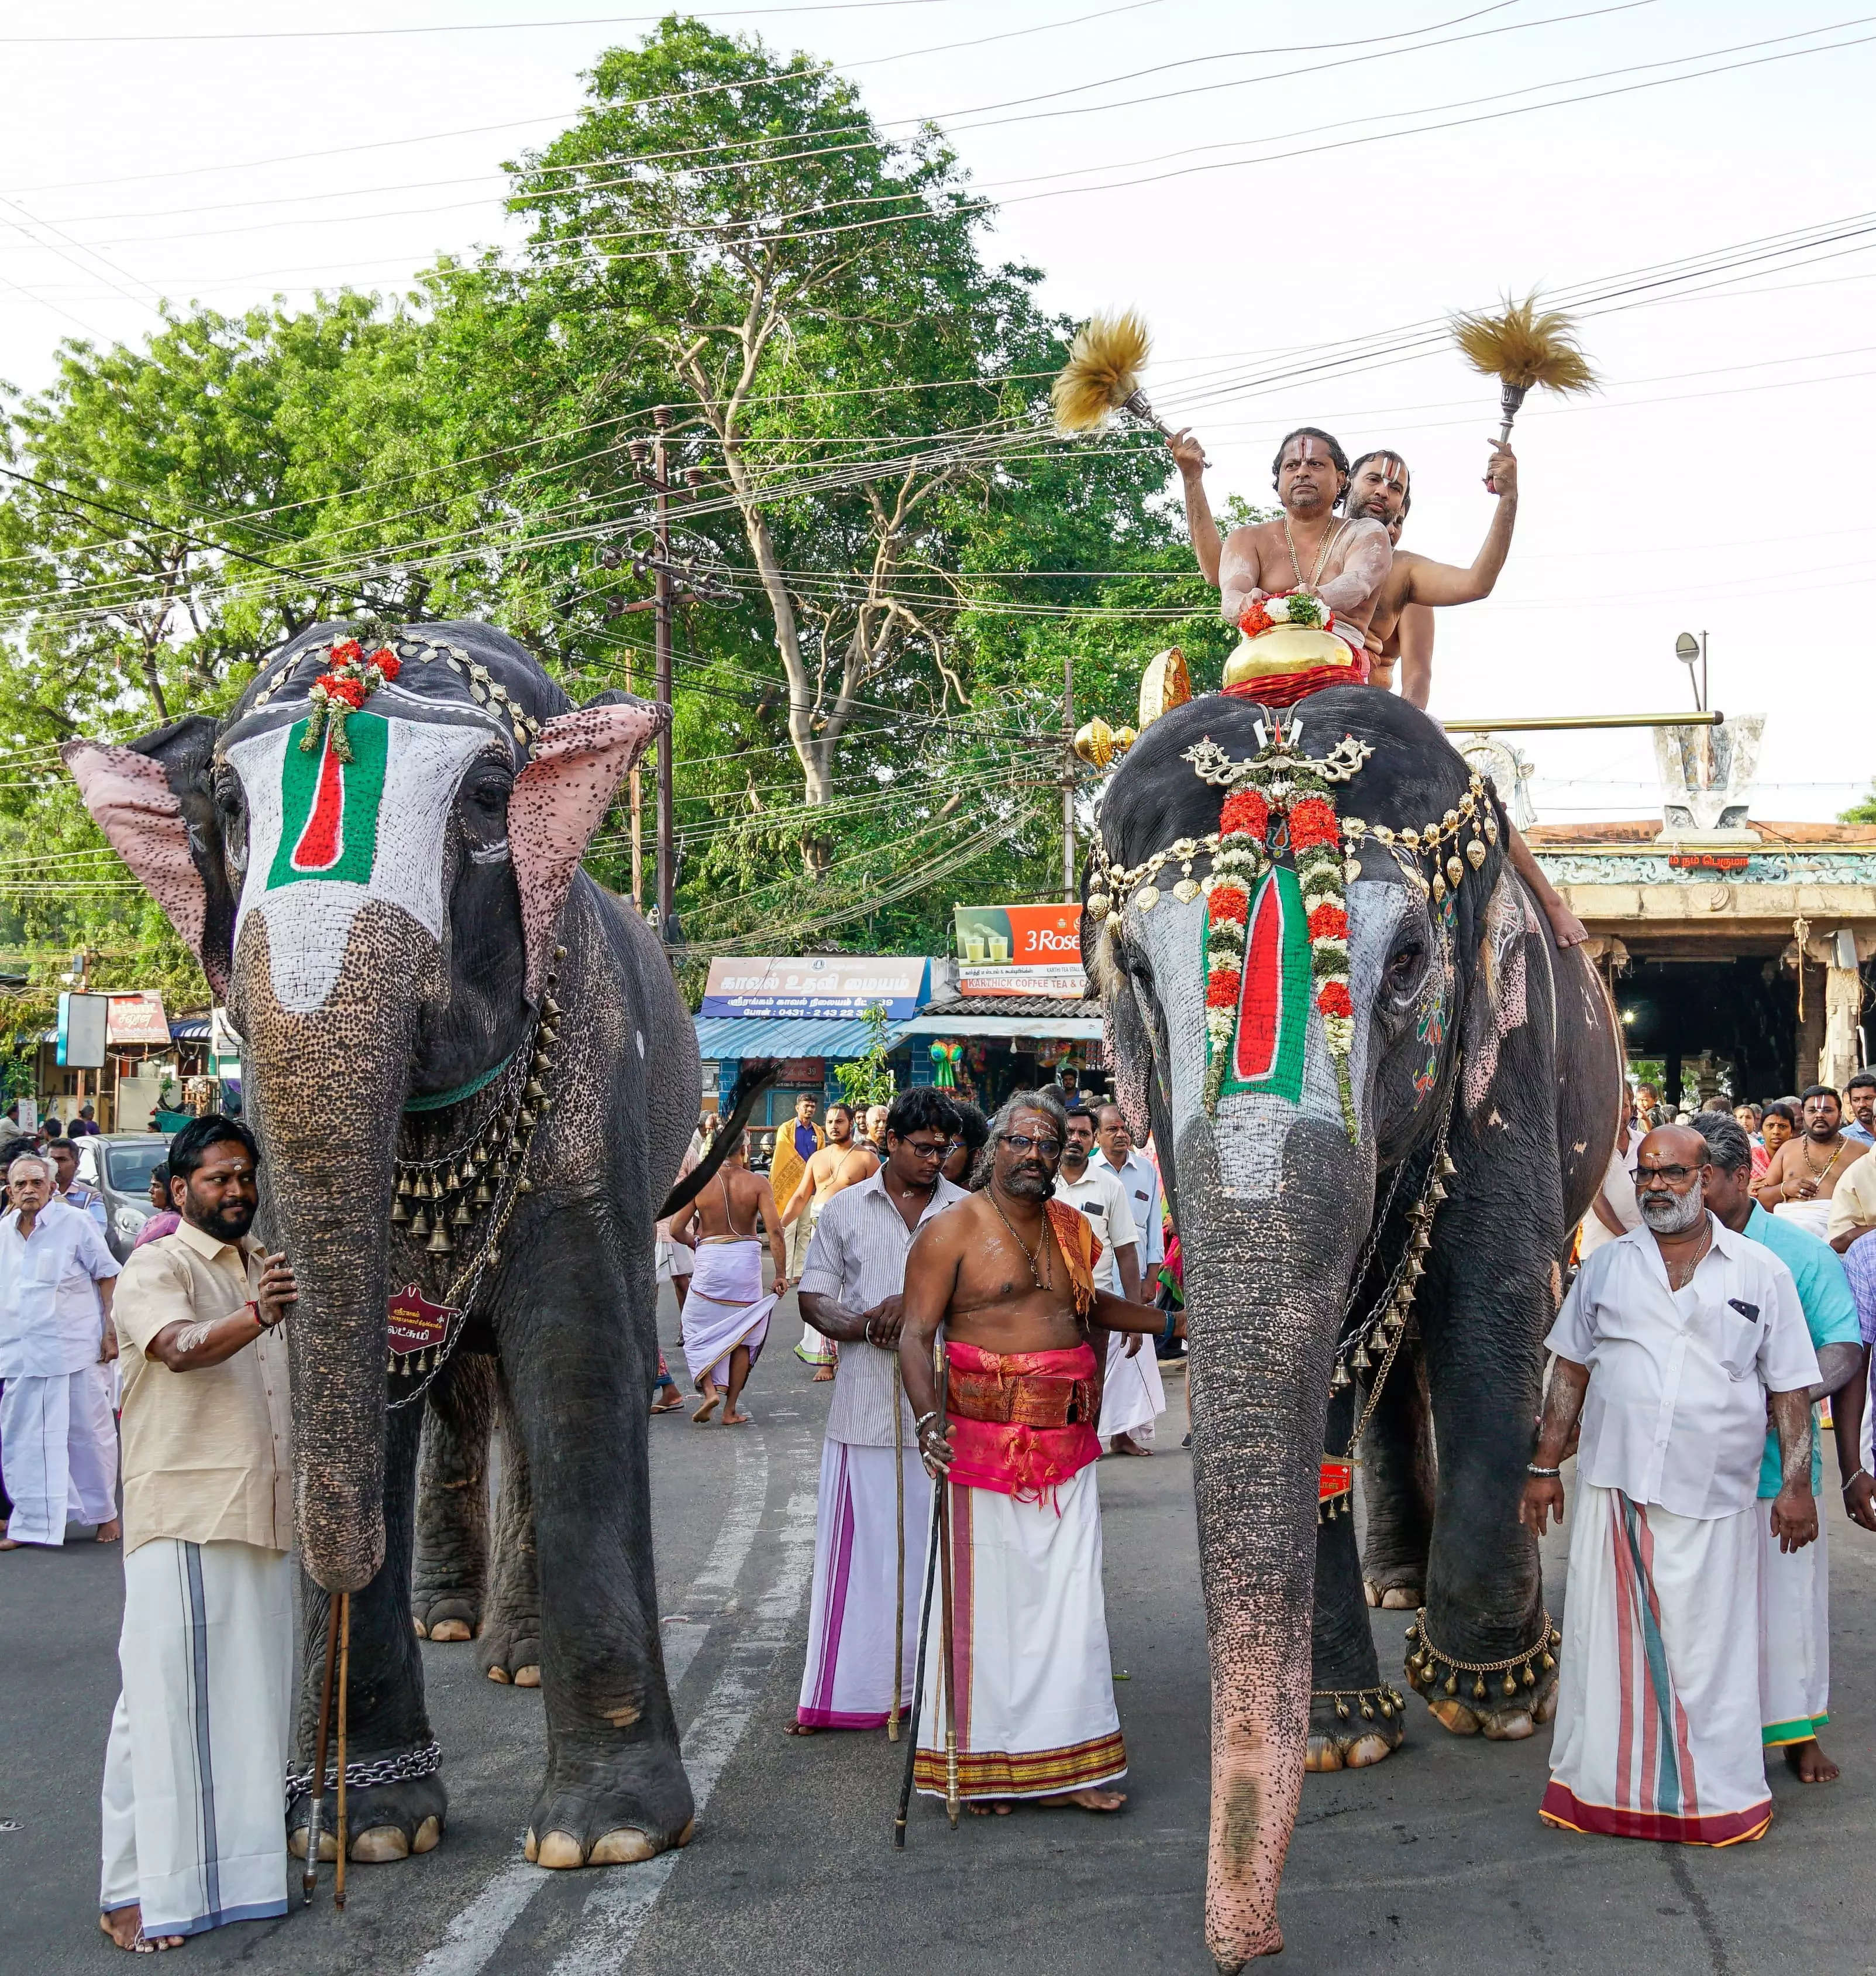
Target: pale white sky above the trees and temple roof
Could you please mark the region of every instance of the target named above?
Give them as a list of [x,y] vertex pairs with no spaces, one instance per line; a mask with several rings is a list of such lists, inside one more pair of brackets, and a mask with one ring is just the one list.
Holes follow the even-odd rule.
[[[1155,332],[1149,395],[1199,427],[1214,502],[1266,494],[1276,439],[1295,423],[1327,425],[1351,454],[1398,445],[1414,466],[1408,545],[1467,561],[1491,510],[1479,468],[1497,427],[1495,385],[1442,348],[1244,395],[1230,385],[1230,360],[1846,219],[1870,184],[1876,14],[1844,16],[1823,0],[1602,0],[1594,18],[1560,20],[1594,4],[899,0],[770,6],[762,18],[699,12],[839,63],[881,119],[940,117],[977,184],[1005,202],[999,249],[1047,271],[1051,306],[1080,316],[1137,304]],[[650,14],[636,26],[253,36],[308,24],[557,22],[604,6],[87,0],[8,10],[0,377],[43,385],[65,334],[140,338],[158,296],[237,310],[273,294],[304,300],[314,285],[395,287],[442,249],[502,239],[500,162],[551,136],[581,103],[581,69],[636,40]],[[1418,36],[1444,45],[1402,40],[1461,16]],[[1821,32],[1789,40],[1803,30]],[[247,38],[30,40],[69,32]],[[1740,49],[1771,38],[1783,40]],[[1325,41],[1349,45],[1327,51]],[[936,51],[948,43],[977,45]],[[1827,43],[1835,51],[1763,59]],[[1317,53],[1264,53],[1305,45]],[[1244,162],[1258,154],[1246,146],[1284,152],[1623,89],[1686,73],[1688,57],[1720,49],[1738,51],[1708,65],[1754,65]],[[1288,79],[1264,81],[1278,71]],[[1110,77],[1120,81],[1076,89]],[[1558,83],[1574,87],[1538,87]],[[1074,93],[968,115],[1064,89]],[[1157,101],[1088,111],[1135,97]],[[1434,115],[1404,115],[1422,111]],[[1317,134],[1276,142],[1288,132]],[[385,138],[419,142],[352,148]],[[1216,148],[1193,156],[1195,146]],[[1187,156],[1167,158],[1175,152]],[[308,156],[267,162],[286,154]],[[1135,164],[1153,158],[1165,162]],[[1220,158],[1230,160],[1222,170],[1060,192],[1088,174],[1145,178]],[[1876,439],[1876,332],[1864,342],[1872,249],[1876,233],[1744,290],[1584,324],[1607,389],[1588,403],[1526,405],[1511,563],[1489,603],[1442,615],[1436,713],[1690,705],[1673,644],[1679,630],[1704,628],[1712,703],[1769,713],[1756,814],[1829,818],[1852,800],[1876,769],[1866,739],[1876,522],[1862,520],[1850,464]],[[1546,822],[1655,808],[1645,731],[1521,745],[1538,763]]]

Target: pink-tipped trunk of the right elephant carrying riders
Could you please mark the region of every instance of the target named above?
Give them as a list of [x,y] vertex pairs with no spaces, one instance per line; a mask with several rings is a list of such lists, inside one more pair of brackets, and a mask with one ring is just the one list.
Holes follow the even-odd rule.
[[1284,1946],[1276,1895],[1309,1733],[1317,1464],[1372,1190],[1345,1134],[1313,1118],[1288,1132],[1264,1197],[1226,1194],[1212,1146],[1195,1152],[1181,1152],[1183,1192],[1197,1182],[1214,1203],[1185,1249],[1212,1676],[1205,1921],[1218,1966],[1234,1970]]

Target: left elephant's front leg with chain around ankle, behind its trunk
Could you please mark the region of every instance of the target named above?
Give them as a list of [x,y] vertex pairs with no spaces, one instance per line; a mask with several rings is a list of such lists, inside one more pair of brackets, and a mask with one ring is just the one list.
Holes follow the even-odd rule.
[[[423,1409],[403,1407],[385,1415],[385,1561],[377,1567],[377,1577],[352,1595],[352,1668],[346,1684],[348,1774],[381,1763],[421,1769],[432,1741],[423,1699],[423,1656],[411,1626],[411,1537],[421,1433]],[[294,1769],[310,1776],[320,1729],[330,1599],[308,1577],[300,1579],[300,1612]],[[334,1731],[326,1753],[328,1769],[338,1761],[336,1751]],[[348,1786],[346,1798],[346,1852],[352,1859],[403,1859],[413,1852],[429,1852],[442,1838],[448,1792],[442,1788],[440,1770],[383,1784]],[[286,1808],[286,1844],[298,1859],[306,1857],[308,1820],[310,1794],[296,1790]],[[338,1857],[336,1822],[338,1806],[328,1790],[320,1836],[322,1859]]]

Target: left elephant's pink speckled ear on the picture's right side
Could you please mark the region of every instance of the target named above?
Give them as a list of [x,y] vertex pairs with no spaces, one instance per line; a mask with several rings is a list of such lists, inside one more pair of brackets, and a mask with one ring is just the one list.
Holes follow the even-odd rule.
[[515,777],[508,798],[508,844],[521,891],[529,1002],[541,998],[553,929],[592,832],[630,767],[669,725],[669,707],[602,694],[590,705],[555,713],[541,727],[533,759]]

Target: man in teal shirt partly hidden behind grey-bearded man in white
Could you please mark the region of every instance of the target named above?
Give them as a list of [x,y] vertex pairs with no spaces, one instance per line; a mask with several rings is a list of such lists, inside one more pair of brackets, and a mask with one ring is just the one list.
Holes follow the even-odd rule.
[[[1767,1215],[1754,1201],[1752,1140],[1724,1112],[1700,1112],[1694,1130],[1706,1140],[1712,1180],[1706,1205],[1736,1235],[1763,1243],[1797,1282],[1805,1326],[1817,1352],[1821,1383],[1811,1389],[1811,1494],[1823,1488],[1825,1462],[1817,1437],[1817,1399],[1838,1393],[1864,1377],[1868,1363],[1856,1298],[1842,1261],[1829,1243],[1807,1235],[1791,1221]],[[1837,1462],[1850,1478],[1844,1488],[1864,1484],[1862,1454],[1848,1407],[1833,1407]],[[1759,1466],[1759,1498],[1779,1492],[1777,1439],[1765,1437]],[[1771,1535],[1771,1518],[1759,1529],[1759,1721],[1765,1747],[1781,1747],[1785,1763],[1805,1784],[1829,1784],[1837,1765],[1823,1753],[1817,1731],[1831,1719],[1831,1561],[1825,1522],[1819,1518],[1817,1543],[1801,1551],[1781,1551]]]

